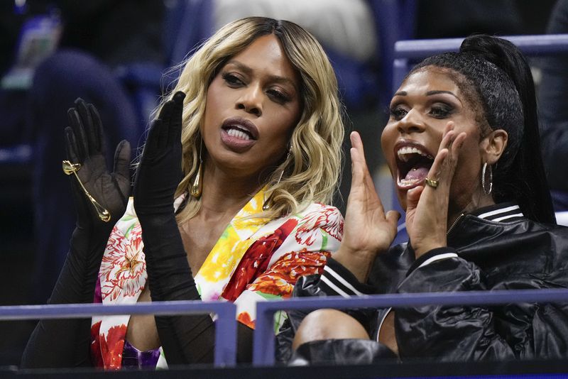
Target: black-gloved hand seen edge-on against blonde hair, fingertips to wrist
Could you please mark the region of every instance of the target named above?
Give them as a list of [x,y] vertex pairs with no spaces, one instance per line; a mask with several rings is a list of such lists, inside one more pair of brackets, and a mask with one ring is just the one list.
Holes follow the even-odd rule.
[[173,215],[173,198],[182,173],[183,92],[166,101],[152,122],[134,181],[134,208],[141,222]]

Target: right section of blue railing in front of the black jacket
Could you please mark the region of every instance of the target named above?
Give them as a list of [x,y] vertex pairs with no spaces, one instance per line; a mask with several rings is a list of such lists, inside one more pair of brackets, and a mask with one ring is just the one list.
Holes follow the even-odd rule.
[[293,300],[258,302],[253,337],[253,366],[274,364],[274,313],[289,309],[404,308],[439,305],[509,304],[520,302],[568,302],[567,289],[499,290],[467,292],[423,292],[351,297],[302,297]]

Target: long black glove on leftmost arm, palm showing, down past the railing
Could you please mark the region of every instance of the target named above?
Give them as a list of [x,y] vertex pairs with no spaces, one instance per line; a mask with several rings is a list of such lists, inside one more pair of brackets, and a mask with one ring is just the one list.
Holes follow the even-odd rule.
[[[130,144],[121,141],[114,154],[114,171],[105,162],[102,123],[92,104],[82,99],[67,111],[70,127],[65,128],[67,158],[80,163],[77,176],[85,189],[107,209],[109,221],[102,221],[92,202],[70,175],[77,224],[70,251],[55,283],[48,304],[90,303],[109,234],[124,214],[130,192]],[[43,320],[38,323],[23,353],[24,368],[89,366],[90,319]]]

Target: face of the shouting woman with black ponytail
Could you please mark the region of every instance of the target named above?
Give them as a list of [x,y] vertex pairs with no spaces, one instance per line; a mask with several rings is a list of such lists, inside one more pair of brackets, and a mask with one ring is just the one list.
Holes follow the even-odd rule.
[[450,187],[449,213],[466,209],[479,194],[482,149],[474,109],[452,77],[438,67],[410,75],[395,93],[381,145],[403,209],[408,189],[424,185],[449,121],[454,122],[456,135],[467,134]]

